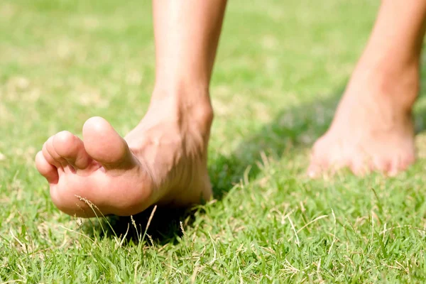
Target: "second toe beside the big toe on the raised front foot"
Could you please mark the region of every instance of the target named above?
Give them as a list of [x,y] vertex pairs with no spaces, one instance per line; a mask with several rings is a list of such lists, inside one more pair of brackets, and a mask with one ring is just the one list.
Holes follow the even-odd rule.
[[92,163],[92,158],[84,149],[83,141],[69,131],[56,134],[52,143],[55,153],[67,160],[73,168],[85,169]]

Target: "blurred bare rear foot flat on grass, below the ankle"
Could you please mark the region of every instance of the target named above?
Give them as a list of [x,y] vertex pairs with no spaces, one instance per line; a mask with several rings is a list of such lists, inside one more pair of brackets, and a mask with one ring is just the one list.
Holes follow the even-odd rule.
[[417,65],[383,72],[361,63],[332,125],[312,149],[308,175],[343,167],[356,175],[371,170],[395,175],[408,168],[415,160],[411,106],[418,76]]

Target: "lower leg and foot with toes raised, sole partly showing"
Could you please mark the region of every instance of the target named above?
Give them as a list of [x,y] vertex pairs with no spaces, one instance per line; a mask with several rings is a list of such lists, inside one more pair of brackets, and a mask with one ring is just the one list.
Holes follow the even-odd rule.
[[85,199],[102,214],[131,215],[152,204],[211,198],[209,81],[225,6],[226,0],[153,1],[155,89],[140,124],[121,138],[93,117],[83,141],[62,131],[35,158],[60,210],[92,217]]

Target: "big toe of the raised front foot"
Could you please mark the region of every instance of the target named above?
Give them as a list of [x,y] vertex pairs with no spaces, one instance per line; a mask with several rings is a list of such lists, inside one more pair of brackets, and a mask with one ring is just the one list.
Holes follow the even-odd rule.
[[106,170],[130,168],[135,161],[129,146],[102,117],[88,119],[83,126],[84,148]]

